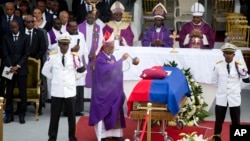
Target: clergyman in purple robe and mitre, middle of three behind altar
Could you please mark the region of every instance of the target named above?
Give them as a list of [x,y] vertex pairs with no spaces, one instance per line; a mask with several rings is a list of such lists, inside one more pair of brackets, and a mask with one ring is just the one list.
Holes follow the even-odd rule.
[[154,15],[154,26],[147,30],[142,39],[142,46],[152,47],[172,47],[173,39],[171,32],[164,25],[167,10],[162,3],[157,4],[152,10]]

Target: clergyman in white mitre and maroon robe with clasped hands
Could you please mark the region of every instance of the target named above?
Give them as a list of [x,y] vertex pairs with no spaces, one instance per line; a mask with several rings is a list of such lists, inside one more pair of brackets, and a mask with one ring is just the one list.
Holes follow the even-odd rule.
[[198,2],[191,7],[192,21],[184,24],[179,33],[181,48],[214,48],[215,34],[212,27],[203,20],[204,6]]

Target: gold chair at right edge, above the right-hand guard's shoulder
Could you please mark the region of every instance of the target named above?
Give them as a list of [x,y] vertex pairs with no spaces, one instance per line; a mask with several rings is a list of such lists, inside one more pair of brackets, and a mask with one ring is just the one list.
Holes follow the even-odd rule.
[[228,36],[232,44],[238,47],[249,47],[250,41],[250,26],[236,25],[230,28]]

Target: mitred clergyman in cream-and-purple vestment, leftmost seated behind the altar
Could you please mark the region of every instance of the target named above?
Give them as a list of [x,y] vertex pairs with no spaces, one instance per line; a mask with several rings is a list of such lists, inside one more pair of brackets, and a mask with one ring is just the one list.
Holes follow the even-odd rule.
[[113,20],[106,23],[103,28],[103,33],[106,31],[114,33],[115,38],[120,40],[121,46],[133,46],[134,33],[131,24],[122,21],[122,13],[124,6],[121,2],[116,1],[110,8]]

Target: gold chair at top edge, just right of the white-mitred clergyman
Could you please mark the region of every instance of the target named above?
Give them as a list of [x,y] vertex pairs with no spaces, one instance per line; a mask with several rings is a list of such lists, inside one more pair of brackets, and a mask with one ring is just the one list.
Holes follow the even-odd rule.
[[218,24],[226,26],[227,13],[233,13],[234,11],[234,0],[213,0],[212,7],[212,27],[216,33]]

